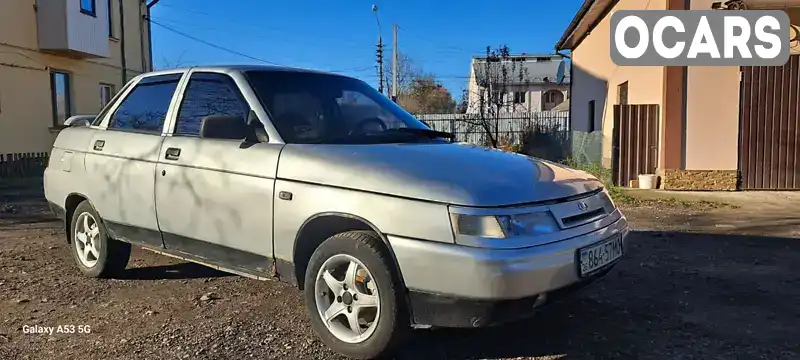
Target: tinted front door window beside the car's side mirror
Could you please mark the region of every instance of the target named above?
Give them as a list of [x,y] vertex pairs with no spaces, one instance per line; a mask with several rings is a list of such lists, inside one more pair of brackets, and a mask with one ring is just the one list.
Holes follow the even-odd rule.
[[194,73],[183,95],[176,135],[197,136],[203,118],[210,115],[239,116],[247,119],[250,107],[236,83],[227,75]]

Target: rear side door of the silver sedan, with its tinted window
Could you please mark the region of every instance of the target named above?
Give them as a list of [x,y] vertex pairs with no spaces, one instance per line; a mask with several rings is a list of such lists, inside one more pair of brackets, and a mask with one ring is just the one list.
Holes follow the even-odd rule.
[[155,171],[163,128],[182,73],[145,77],[108,111],[86,154],[87,197],[111,236],[162,247]]

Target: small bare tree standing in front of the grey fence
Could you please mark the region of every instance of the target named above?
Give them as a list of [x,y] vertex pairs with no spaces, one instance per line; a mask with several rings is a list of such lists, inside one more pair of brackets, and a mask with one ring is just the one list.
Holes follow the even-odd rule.
[[503,114],[514,111],[512,89],[527,87],[528,71],[522,64],[524,59],[512,56],[508,46],[492,49],[486,47],[486,56],[477,58],[473,65],[478,91],[468,94],[474,97],[477,109],[475,116],[461,121],[469,127],[483,131],[487,145],[496,148],[500,142],[500,119]]

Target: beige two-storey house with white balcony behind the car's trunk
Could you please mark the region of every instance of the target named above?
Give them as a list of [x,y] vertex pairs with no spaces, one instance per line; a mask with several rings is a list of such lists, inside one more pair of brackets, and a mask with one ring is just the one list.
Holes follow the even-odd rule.
[[152,67],[143,0],[0,1],[0,154],[47,152]]

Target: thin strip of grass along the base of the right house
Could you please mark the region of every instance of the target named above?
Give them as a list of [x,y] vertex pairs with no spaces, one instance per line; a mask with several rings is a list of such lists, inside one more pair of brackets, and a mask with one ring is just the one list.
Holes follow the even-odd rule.
[[730,204],[707,201],[707,200],[683,200],[674,197],[665,197],[657,199],[637,198],[628,195],[623,187],[614,185],[614,182],[611,180],[611,169],[604,168],[602,165],[598,163],[591,163],[591,164],[577,163],[573,159],[567,159],[563,163],[571,168],[586,171],[594,175],[600,181],[602,181],[603,186],[605,186],[606,189],[608,189],[608,193],[609,195],[611,195],[611,199],[614,200],[614,203],[617,205],[624,205],[631,207],[635,206],[681,207],[694,210],[709,210],[717,208],[736,207]]

